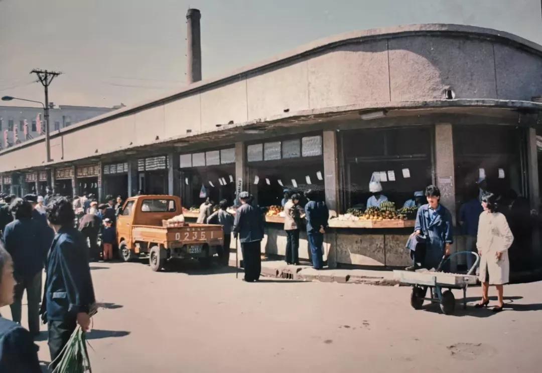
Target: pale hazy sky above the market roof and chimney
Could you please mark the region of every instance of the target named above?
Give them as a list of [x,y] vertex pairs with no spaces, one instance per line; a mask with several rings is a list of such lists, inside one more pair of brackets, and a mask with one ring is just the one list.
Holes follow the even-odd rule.
[[540,0],[0,0],[0,96],[43,101],[33,68],[62,71],[49,89],[57,105],[132,105],[183,89],[189,7],[202,12],[205,80],[319,38],[398,24],[469,24],[542,44],[540,6]]

